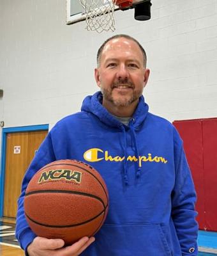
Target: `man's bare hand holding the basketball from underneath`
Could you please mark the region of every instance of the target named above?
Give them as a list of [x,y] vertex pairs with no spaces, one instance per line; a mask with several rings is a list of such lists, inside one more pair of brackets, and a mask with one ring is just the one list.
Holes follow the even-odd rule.
[[63,239],[47,239],[35,237],[27,247],[29,256],[77,256],[95,240],[94,237],[82,237],[71,246],[64,246]]

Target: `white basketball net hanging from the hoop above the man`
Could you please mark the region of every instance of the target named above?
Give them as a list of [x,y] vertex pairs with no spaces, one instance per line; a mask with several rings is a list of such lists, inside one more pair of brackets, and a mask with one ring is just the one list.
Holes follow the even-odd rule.
[[87,30],[114,31],[114,6],[116,0],[80,0],[86,13]]

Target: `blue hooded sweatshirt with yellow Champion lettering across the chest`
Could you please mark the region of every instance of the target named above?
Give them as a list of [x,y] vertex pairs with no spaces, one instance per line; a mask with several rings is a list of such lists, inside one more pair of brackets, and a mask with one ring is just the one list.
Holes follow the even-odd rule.
[[101,173],[110,198],[107,219],[83,256],[197,255],[195,188],[176,129],[149,113],[143,96],[128,126],[101,101],[100,92],[86,97],[81,112],[53,127],[30,164],[17,213],[21,247],[36,236],[24,216],[29,180],[45,164],[78,159]]

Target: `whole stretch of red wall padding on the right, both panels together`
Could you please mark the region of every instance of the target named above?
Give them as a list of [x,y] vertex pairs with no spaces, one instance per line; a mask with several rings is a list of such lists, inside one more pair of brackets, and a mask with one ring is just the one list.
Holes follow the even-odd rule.
[[217,231],[217,118],[175,121],[197,191],[199,228]]

